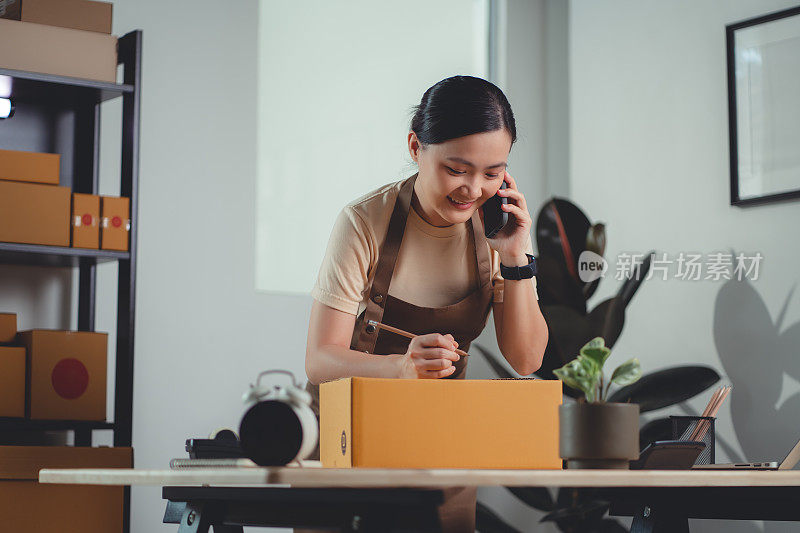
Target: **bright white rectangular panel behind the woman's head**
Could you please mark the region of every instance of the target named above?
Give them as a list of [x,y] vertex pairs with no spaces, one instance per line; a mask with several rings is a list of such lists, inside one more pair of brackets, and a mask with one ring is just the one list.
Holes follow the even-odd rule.
[[342,207],[414,172],[406,136],[425,89],[486,77],[488,2],[260,6],[255,284],[308,294]]

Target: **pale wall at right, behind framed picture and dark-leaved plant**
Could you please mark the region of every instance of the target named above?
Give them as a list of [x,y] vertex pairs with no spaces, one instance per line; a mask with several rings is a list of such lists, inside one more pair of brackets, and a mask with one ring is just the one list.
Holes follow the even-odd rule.
[[[646,371],[701,363],[724,374],[734,389],[718,432],[734,456],[750,460],[782,458],[800,437],[800,356],[789,340],[798,338],[800,319],[793,238],[800,206],[729,205],[725,25],[796,4],[570,3],[570,189],[590,218],[607,223],[606,257],[650,249],[764,256],[749,286],[645,281],[615,347],[619,359],[636,356]],[[592,303],[618,285],[605,279]],[[707,398],[691,408],[701,410]],[[692,531],[753,530],[697,522]]]

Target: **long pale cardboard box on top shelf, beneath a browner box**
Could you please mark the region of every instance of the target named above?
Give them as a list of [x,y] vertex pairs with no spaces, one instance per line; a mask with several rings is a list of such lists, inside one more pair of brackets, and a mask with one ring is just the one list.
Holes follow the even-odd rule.
[[0,19],[0,68],[117,81],[117,38],[93,31]]

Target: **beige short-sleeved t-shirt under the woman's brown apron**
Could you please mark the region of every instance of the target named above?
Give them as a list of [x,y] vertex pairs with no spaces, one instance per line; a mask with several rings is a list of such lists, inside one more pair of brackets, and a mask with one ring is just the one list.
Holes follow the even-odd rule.
[[[311,291],[314,299],[352,315],[366,307],[378,253],[402,183],[384,185],[342,209]],[[532,253],[530,243],[528,253]],[[502,302],[500,256],[490,248],[489,257],[493,299]],[[468,296],[480,282],[475,242],[467,224],[432,226],[411,208],[389,294],[420,307],[444,307]],[[536,278],[530,282],[535,292]]]

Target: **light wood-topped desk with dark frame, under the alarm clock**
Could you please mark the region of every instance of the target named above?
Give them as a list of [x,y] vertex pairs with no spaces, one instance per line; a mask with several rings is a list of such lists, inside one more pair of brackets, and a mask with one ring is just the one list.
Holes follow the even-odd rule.
[[[688,531],[688,518],[800,521],[800,471],[45,469],[41,483],[156,485],[179,532],[241,525],[437,531],[445,486],[593,487],[631,532]],[[405,529],[404,529],[405,528]]]

